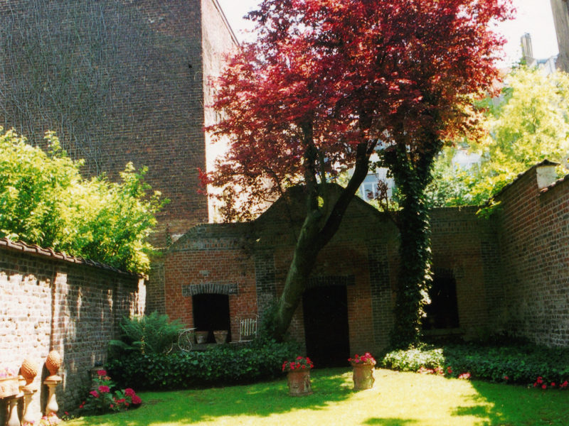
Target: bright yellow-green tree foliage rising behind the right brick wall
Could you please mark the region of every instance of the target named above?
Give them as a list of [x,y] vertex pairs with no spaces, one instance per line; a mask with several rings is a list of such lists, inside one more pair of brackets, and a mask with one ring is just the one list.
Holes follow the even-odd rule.
[[[519,67],[506,78],[502,96],[486,99],[488,132],[481,143],[461,149],[481,155],[479,164],[453,162],[458,147],[438,156],[427,187],[431,207],[481,205],[516,175],[548,159],[567,165],[569,155],[569,75]],[[560,168],[560,175],[567,169]]]

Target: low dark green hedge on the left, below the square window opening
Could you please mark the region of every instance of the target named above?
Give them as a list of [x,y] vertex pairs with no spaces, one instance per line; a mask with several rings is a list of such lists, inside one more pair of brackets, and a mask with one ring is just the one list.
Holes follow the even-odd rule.
[[119,386],[137,390],[184,389],[249,383],[282,374],[282,362],[299,354],[296,344],[270,340],[224,344],[207,351],[123,354],[107,363]]

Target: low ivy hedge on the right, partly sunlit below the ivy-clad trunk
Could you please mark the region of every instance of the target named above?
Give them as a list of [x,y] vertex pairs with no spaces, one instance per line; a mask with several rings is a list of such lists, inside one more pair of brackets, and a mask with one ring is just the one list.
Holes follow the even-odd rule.
[[[452,344],[422,346],[391,351],[383,356],[380,366],[398,371],[441,368],[458,376],[470,373],[472,378],[486,381],[518,383],[564,383],[569,381],[569,349],[551,349],[531,344],[519,346],[484,346]],[[538,381],[541,377],[541,381]]]

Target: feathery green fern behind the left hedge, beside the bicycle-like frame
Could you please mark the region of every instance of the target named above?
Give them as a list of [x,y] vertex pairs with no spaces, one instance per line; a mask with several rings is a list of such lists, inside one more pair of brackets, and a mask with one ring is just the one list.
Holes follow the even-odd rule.
[[184,325],[179,320],[170,321],[168,315],[159,315],[154,311],[142,317],[124,317],[120,328],[120,340],[110,342],[115,356],[131,351],[139,354],[163,354],[176,342]]

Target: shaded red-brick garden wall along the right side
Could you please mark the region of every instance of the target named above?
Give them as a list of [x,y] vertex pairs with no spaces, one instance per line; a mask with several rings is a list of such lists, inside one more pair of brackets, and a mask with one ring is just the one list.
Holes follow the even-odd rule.
[[549,346],[569,346],[569,179],[540,190],[538,168],[499,195],[496,214],[504,327]]

